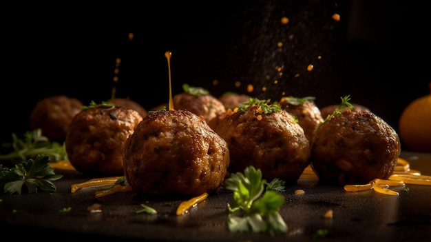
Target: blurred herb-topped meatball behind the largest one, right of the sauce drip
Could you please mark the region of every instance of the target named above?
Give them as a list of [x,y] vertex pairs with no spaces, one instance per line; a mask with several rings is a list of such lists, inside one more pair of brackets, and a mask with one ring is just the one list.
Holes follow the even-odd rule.
[[213,97],[203,88],[189,87],[183,85],[185,92],[174,95],[172,101],[174,109],[185,109],[197,115],[202,115],[205,121],[210,121],[218,114],[226,112],[223,103]]

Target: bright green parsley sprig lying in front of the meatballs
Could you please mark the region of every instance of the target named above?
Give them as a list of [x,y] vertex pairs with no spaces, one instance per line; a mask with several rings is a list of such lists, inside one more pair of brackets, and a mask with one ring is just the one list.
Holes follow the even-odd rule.
[[[267,186],[262,171],[248,166],[241,172],[231,174],[224,183],[233,192],[233,202],[228,203],[227,225],[231,232],[261,232],[271,236],[287,232],[287,225],[279,213],[284,196],[276,192],[284,189],[281,180]],[[263,195],[262,195],[263,193]]]

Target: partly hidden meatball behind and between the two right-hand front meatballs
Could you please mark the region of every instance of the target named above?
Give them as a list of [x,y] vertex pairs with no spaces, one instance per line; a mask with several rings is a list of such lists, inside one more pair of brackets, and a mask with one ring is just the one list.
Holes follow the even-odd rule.
[[298,120],[299,125],[304,129],[305,136],[311,142],[315,130],[324,121],[314,102],[314,97],[282,97],[280,106]]

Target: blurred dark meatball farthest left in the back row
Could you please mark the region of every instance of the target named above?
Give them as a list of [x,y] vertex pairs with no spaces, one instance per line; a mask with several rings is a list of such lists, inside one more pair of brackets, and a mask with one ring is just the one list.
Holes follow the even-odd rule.
[[83,103],[76,98],[58,95],[36,103],[30,114],[30,129],[40,128],[52,141],[64,141],[72,118],[81,112]]

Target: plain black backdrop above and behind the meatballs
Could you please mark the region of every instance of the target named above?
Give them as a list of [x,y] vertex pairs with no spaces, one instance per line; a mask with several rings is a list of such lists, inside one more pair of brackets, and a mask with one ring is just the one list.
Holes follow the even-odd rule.
[[[44,97],[65,94],[85,105],[109,99],[117,58],[116,97],[148,110],[167,103],[166,51],[174,94],[189,83],[215,97],[314,96],[321,108],[350,94],[397,130],[403,108],[430,92],[421,9],[423,3],[387,0],[8,3],[1,14],[0,138],[27,131]],[[290,20],[285,26],[282,17]],[[253,92],[246,92],[249,83]]]

